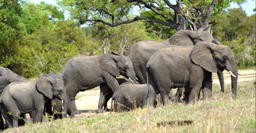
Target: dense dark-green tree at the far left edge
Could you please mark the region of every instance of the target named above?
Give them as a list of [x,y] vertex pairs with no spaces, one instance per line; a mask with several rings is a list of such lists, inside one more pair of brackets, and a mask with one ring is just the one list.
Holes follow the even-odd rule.
[[26,27],[20,21],[20,0],[0,1],[0,64],[10,65],[19,48],[19,41],[26,35]]

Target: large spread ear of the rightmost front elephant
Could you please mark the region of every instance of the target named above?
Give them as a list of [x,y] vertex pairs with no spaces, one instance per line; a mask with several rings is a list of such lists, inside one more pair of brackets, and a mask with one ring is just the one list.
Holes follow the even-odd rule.
[[213,43],[200,41],[195,44],[189,56],[193,63],[201,66],[209,72],[216,73],[218,68],[213,56],[216,46],[217,45]]

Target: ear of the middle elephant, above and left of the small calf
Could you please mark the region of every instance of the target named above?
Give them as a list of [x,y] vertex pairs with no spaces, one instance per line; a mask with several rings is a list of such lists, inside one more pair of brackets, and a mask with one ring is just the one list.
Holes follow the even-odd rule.
[[114,57],[104,54],[99,60],[99,64],[103,70],[108,71],[113,76],[120,76],[119,69],[117,68],[117,61]]

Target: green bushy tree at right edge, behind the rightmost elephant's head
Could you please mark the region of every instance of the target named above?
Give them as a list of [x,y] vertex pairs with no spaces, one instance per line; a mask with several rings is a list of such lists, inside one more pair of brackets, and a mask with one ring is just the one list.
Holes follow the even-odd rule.
[[232,48],[238,68],[255,66],[255,14],[246,16],[241,8],[232,8],[219,14],[217,23],[212,35]]

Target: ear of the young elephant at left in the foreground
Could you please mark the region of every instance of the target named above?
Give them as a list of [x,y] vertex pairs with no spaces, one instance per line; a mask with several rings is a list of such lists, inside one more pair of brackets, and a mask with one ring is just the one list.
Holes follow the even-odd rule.
[[42,77],[38,78],[36,81],[36,88],[39,92],[42,92],[46,97],[52,99],[53,91],[52,91],[52,82],[53,78],[48,74],[44,74]]

